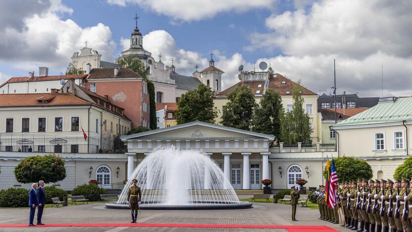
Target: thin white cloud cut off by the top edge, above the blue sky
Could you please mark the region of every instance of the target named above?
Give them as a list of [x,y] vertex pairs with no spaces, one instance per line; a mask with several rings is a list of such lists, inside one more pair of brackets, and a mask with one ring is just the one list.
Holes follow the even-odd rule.
[[109,4],[137,4],[173,20],[198,21],[228,11],[271,8],[276,0],[106,0]]

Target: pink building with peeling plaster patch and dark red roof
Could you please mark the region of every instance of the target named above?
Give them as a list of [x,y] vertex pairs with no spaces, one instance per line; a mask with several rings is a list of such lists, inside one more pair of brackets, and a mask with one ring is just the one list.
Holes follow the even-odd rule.
[[85,87],[105,96],[133,121],[133,127],[149,127],[149,92],[147,81],[129,68],[94,68]]

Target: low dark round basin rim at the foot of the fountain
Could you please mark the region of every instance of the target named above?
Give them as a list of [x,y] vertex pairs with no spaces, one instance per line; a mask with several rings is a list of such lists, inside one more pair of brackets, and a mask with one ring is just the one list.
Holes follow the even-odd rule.
[[[130,209],[128,204],[118,204],[114,202],[105,203],[109,209]],[[248,209],[252,207],[252,202],[239,201],[236,203],[192,203],[190,205],[162,205],[158,204],[141,204],[142,210],[215,210],[215,209]]]

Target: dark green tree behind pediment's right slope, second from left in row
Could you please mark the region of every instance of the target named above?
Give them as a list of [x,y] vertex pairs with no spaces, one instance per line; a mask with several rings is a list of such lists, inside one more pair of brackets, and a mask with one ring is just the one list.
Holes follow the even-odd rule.
[[224,106],[221,123],[224,126],[250,130],[253,111],[257,106],[252,91],[242,85],[230,92],[227,99],[229,101]]

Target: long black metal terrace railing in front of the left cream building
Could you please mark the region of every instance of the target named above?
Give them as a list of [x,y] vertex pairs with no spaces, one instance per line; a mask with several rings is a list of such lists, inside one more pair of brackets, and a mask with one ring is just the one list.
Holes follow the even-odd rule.
[[119,137],[72,137],[0,133],[0,151],[43,153],[125,153]]

